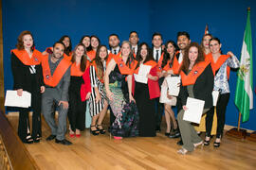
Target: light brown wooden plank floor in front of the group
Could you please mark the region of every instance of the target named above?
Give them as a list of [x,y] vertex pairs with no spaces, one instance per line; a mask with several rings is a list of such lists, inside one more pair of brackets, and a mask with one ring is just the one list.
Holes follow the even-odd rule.
[[[17,129],[17,116],[9,116]],[[104,126],[107,127],[107,126]],[[165,129],[163,126],[162,128]],[[224,136],[219,148],[196,148],[189,155],[176,153],[177,139],[164,136],[164,130],[155,138],[125,138],[114,140],[109,133],[93,136],[86,129],[81,138],[66,138],[70,146],[46,142],[49,127],[43,122],[43,140],[26,144],[41,169],[256,169],[256,143]]]

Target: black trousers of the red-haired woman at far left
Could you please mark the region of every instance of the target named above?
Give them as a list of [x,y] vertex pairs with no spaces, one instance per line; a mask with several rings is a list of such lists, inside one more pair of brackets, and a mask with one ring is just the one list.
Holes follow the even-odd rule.
[[18,136],[22,142],[26,142],[27,128],[30,131],[29,126],[29,111],[33,110],[32,114],[32,133],[33,139],[36,139],[37,135],[42,136],[42,123],[41,123],[41,93],[36,88],[33,88],[31,93],[31,107],[19,108],[19,125],[18,125]]

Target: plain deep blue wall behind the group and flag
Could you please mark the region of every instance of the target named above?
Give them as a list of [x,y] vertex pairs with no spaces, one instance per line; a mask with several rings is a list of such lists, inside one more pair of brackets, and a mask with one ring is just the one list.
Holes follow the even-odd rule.
[[[192,42],[201,42],[208,24],[210,33],[223,43],[223,52],[230,50],[240,59],[247,7],[251,7],[253,54],[256,54],[256,2],[253,0],[4,0],[5,89],[12,88],[9,51],[15,48],[16,39],[23,30],[30,30],[37,49],[44,51],[64,34],[71,37],[74,46],[83,34],[96,34],[107,44],[109,34],[117,33],[123,41],[128,39],[131,30],[137,30],[140,42],[151,43],[155,31],[162,33],[164,41],[175,41],[176,33],[182,30],[191,34]],[[256,67],[255,55],[253,57]],[[231,126],[237,126],[238,121],[238,110],[233,102],[236,78],[236,73],[232,72],[226,116],[226,124]],[[251,110],[249,121],[242,127],[256,130],[255,122],[256,109]]]

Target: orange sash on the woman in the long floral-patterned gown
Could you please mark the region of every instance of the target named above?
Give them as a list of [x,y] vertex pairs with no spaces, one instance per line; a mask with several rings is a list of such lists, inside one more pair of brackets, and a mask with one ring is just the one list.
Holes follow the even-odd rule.
[[116,55],[113,57],[117,64],[119,65],[119,71],[122,75],[133,75],[135,68],[137,66],[137,60],[131,63],[131,68],[129,68],[124,61],[121,59],[121,55]]

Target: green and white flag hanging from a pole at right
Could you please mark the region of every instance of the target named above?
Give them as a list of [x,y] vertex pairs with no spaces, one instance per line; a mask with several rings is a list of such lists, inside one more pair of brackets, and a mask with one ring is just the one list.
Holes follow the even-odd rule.
[[250,29],[250,10],[247,10],[247,27],[240,59],[240,69],[235,92],[235,105],[242,114],[242,122],[249,118],[249,110],[253,108],[253,76],[252,76],[252,42]]

